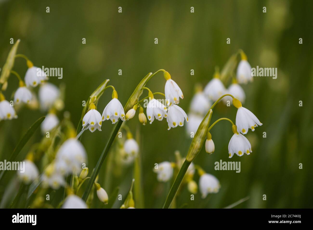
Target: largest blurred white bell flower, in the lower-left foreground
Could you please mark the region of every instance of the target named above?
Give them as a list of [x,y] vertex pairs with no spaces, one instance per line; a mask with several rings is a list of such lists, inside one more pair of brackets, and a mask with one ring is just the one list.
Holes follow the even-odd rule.
[[77,174],[80,172],[82,164],[86,163],[86,159],[86,151],[80,141],[76,138],[69,138],[59,148],[55,156],[55,165],[56,167],[59,166],[59,168],[65,165],[65,173]]

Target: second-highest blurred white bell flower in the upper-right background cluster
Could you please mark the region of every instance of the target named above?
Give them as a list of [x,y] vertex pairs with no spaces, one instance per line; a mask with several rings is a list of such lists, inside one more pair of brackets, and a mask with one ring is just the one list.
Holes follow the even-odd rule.
[[204,88],[205,95],[208,96],[210,100],[216,101],[218,100],[223,94],[225,94],[225,87],[222,81],[219,79],[219,74],[215,73],[215,76],[212,80]]

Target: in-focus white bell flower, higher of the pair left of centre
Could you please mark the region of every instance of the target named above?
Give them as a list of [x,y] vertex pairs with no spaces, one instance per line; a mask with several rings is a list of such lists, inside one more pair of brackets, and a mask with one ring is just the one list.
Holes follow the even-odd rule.
[[117,93],[113,90],[112,100],[105,106],[102,113],[102,121],[111,120],[112,124],[115,124],[118,119],[125,120],[125,112],[123,105],[117,99]]

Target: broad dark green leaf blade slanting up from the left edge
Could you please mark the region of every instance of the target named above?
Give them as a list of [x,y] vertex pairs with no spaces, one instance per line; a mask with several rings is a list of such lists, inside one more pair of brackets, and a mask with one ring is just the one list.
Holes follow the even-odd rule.
[[[31,136],[33,135],[33,133],[36,131],[36,129],[39,127],[39,125],[41,124],[41,122],[43,122],[44,120],[44,116],[40,117],[38,120],[35,121],[35,123],[33,123],[32,126],[30,126],[30,128],[26,131],[26,133],[23,135],[22,139],[18,142],[18,145],[15,147],[15,149],[13,150],[13,153],[11,154],[10,158],[8,161],[14,161],[15,158],[17,157],[18,153],[23,149],[23,147],[26,145],[26,143],[28,142],[28,140],[31,138]],[[4,174],[5,174],[6,170],[3,170],[2,173],[0,174],[0,181],[3,178]]]

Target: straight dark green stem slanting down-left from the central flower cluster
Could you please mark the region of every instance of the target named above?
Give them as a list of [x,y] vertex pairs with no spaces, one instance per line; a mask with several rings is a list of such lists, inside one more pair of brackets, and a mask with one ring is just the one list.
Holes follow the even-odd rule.
[[92,185],[94,184],[95,179],[96,179],[96,177],[100,171],[100,166],[102,165],[105,157],[108,155],[110,147],[111,147],[111,145],[115,139],[115,136],[117,135],[118,131],[120,130],[122,123],[123,123],[123,121],[121,119],[117,122],[115,129],[113,130],[112,135],[111,135],[108,143],[106,144],[104,150],[102,151],[101,156],[97,162],[97,165],[95,166],[94,171],[92,172],[91,178],[90,178],[88,185],[87,185],[87,189],[85,190],[83,196],[81,197],[85,202],[87,201],[87,198],[88,198],[89,193],[91,191]]

